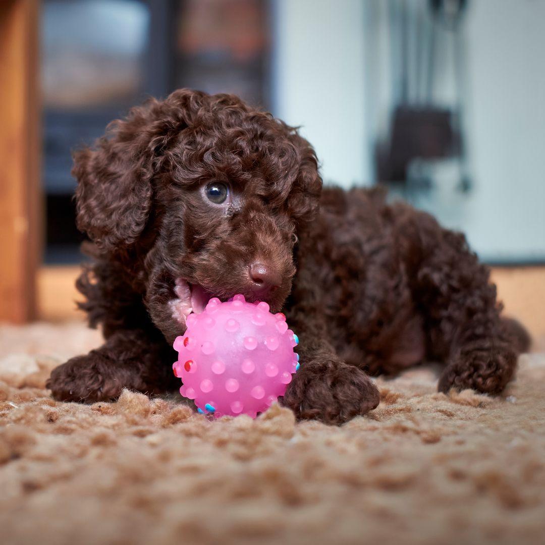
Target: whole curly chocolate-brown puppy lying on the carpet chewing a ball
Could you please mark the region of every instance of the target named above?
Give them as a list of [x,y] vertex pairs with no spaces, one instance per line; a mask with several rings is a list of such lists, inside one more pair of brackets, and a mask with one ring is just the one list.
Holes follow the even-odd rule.
[[[365,414],[379,402],[369,374],[426,358],[446,362],[441,391],[498,393],[512,377],[524,329],[500,318],[463,235],[378,190],[320,198],[310,144],[235,96],[152,99],[78,152],[73,172],[78,227],[94,242],[81,306],[106,343],[53,371],[58,399],[172,389],[170,345],[210,294],[286,313],[301,368],[282,402],[303,419]],[[210,202],[210,181],[228,202]]]

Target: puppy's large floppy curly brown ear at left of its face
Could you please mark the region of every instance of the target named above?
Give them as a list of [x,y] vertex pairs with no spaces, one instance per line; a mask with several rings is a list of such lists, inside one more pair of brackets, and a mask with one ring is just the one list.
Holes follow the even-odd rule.
[[108,125],[93,148],[74,154],[77,227],[102,250],[138,239],[152,208],[152,179],[205,96],[181,89],[165,101],[151,99]]

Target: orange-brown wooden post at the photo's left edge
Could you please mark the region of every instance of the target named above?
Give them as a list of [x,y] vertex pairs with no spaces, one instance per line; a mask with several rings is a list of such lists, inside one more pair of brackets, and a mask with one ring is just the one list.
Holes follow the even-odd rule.
[[41,253],[39,0],[0,2],[0,322],[36,317]]

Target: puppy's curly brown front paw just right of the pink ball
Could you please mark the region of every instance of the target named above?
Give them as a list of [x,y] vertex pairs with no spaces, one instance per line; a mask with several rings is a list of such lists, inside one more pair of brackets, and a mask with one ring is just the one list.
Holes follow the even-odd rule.
[[299,419],[342,424],[379,404],[377,386],[364,371],[340,361],[312,361],[301,365],[282,404]]

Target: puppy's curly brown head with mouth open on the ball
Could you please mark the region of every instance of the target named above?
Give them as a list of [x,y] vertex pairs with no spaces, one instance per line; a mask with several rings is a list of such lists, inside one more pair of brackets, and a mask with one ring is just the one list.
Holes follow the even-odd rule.
[[296,130],[233,95],[179,90],[75,154],[77,225],[123,264],[168,340],[211,296],[283,305],[322,180]]

